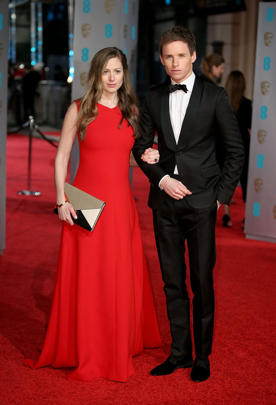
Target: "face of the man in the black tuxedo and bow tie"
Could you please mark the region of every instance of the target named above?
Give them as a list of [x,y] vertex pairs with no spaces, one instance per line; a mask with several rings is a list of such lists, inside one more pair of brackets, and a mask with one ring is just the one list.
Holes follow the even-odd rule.
[[187,43],[173,41],[163,46],[160,60],[171,79],[175,83],[181,83],[181,81],[188,79],[192,73],[192,64],[196,60],[196,51],[191,56]]

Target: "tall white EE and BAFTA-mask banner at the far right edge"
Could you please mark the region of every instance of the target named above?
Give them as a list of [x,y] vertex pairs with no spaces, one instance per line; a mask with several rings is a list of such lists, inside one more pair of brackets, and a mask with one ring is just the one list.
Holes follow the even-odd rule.
[[276,2],[259,3],[244,233],[276,243]]

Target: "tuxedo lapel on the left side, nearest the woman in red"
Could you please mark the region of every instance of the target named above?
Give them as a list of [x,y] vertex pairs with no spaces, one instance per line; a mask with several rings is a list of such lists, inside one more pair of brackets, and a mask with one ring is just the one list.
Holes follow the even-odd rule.
[[160,104],[160,119],[161,119],[161,126],[162,132],[164,136],[164,140],[166,145],[172,151],[176,149],[176,141],[175,135],[173,133],[173,127],[171,124],[171,117],[170,117],[170,93],[168,90],[168,86],[164,86],[164,91],[161,96],[161,104]]

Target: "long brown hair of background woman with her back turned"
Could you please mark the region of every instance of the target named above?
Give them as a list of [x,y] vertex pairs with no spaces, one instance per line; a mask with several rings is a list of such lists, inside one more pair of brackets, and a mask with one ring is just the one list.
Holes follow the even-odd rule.
[[225,83],[225,90],[228,92],[230,104],[237,115],[245,91],[245,79],[242,72],[233,70],[229,73]]

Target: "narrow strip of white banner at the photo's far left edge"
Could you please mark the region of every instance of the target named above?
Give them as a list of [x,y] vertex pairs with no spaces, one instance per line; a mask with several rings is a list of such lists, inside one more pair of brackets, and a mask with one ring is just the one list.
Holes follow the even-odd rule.
[[8,18],[8,1],[0,1],[0,255],[5,248],[6,233]]

